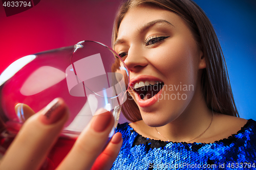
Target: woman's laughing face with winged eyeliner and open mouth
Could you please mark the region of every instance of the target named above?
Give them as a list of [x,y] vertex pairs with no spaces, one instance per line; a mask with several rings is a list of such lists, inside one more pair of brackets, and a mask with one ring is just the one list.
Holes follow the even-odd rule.
[[132,8],[114,45],[129,68],[130,95],[148,126],[172,122],[201,93],[203,53],[178,15],[148,6]]

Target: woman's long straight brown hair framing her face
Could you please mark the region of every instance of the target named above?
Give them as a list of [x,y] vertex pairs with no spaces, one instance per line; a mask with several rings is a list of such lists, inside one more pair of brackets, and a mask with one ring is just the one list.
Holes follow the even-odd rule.
[[[204,11],[190,0],[130,0],[122,4],[116,16],[112,43],[116,41],[120,23],[126,12],[134,7],[150,5],[179,15],[187,23],[206,62],[201,78],[201,89],[207,107],[218,113],[238,116],[227,74],[227,67],[219,40]],[[131,122],[141,120],[138,106],[128,95],[122,112]]]

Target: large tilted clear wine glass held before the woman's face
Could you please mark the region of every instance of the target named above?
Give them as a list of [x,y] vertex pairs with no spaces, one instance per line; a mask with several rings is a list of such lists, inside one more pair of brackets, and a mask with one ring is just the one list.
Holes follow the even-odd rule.
[[128,86],[129,72],[121,58],[96,41],[81,41],[16,60],[0,76],[0,116],[7,129],[0,136],[0,152],[4,154],[24,123],[23,108],[15,113],[17,103],[38,112],[55,98],[62,98],[70,118],[41,168],[54,169],[99,108],[113,113],[112,137]]

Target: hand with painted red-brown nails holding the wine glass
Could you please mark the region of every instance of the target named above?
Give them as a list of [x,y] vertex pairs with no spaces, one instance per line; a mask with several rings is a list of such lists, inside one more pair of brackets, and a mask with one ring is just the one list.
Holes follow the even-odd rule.
[[[20,105],[23,104],[16,105],[15,109]],[[0,169],[38,169],[69,117],[67,105],[61,99],[55,99],[35,114],[27,105],[23,107],[24,119],[27,120],[1,160]],[[122,137],[116,133],[103,150],[114,125],[114,118],[104,109],[97,112],[101,114],[93,116],[56,169],[111,168],[121,148]]]

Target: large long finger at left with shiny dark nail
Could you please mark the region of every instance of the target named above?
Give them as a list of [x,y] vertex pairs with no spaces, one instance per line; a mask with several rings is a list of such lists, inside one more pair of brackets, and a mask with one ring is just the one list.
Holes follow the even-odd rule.
[[67,106],[61,99],[53,100],[31,116],[11,143],[0,169],[38,169],[68,117]]

